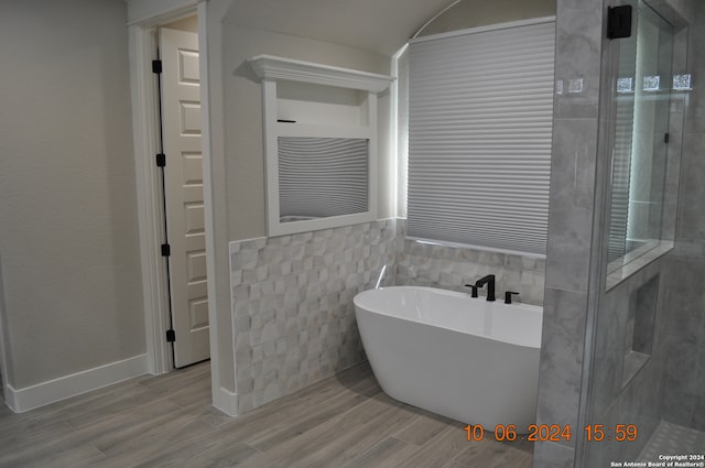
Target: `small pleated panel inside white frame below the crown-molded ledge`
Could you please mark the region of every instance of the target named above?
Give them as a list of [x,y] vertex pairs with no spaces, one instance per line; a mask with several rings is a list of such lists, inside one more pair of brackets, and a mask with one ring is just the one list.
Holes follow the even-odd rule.
[[279,220],[366,213],[369,141],[279,137]]

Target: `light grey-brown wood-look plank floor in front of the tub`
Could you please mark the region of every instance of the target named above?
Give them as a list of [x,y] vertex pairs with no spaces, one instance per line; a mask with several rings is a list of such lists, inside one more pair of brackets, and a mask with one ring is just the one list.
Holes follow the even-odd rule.
[[0,467],[531,467],[528,443],[397,402],[361,364],[240,417],[210,406],[210,368],[145,376],[23,414],[0,404]]

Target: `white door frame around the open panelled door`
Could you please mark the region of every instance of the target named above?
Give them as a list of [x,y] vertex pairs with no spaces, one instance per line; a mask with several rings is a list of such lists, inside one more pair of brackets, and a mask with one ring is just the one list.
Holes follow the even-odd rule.
[[208,61],[206,51],[206,2],[189,1],[186,6],[161,12],[145,20],[129,23],[130,81],[132,88],[132,131],[134,139],[134,165],[139,213],[140,251],[148,370],[153,374],[174,369],[170,344],[166,341],[169,326],[167,277],[160,246],[163,236],[161,185],[154,162],[159,152],[158,96],[151,61],[158,46],[156,29],[177,19],[197,15],[202,101],[202,151],[204,165],[204,205],[206,236],[206,269],[208,277],[208,317],[212,359],[212,384],[215,387],[218,369],[217,322],[215,320],[215,257],[213,184],[210,177],[209,113],[208,113]]

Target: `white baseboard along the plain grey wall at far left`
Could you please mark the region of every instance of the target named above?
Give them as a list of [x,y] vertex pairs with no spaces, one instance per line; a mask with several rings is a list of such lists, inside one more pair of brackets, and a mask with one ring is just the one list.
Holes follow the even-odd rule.
[[7,384],[6,404],[15,413],[23,413],[145,373],[149,373],[147,355],[135,356],[24,389],[15,390]]

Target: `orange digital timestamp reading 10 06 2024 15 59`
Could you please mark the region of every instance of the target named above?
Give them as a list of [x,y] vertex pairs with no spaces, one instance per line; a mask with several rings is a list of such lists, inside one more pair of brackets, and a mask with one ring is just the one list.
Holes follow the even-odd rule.
[[[634,424],[588,424],[583,427],[587,442],[633,442],[639,435]],[[492,429],[486,429],[481,424],[465,426],[468,442],[484,440],[487,436],[499,442],[529,440],[529,442],[561,442],[571,440],[573,431],[571,425],[560,424],[530,424],[525,431],[521,432],[516,424],[498,424]]]

